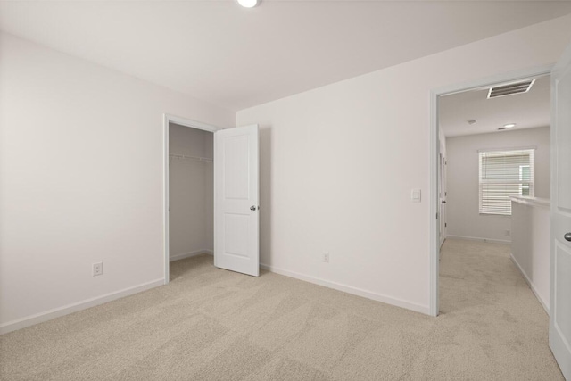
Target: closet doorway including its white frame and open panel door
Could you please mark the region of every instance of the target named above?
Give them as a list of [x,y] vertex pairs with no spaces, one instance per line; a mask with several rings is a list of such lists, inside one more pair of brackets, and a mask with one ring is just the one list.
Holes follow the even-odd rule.
[[164,284],[170,261],[260,275],[258,125],[215,128],[164,115]]

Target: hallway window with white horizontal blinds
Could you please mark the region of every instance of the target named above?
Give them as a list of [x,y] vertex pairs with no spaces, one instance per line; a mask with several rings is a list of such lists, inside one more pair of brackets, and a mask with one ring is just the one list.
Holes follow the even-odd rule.
[[534,196],[534,149],[480,151],[480,213],[511,216],[509,196]]

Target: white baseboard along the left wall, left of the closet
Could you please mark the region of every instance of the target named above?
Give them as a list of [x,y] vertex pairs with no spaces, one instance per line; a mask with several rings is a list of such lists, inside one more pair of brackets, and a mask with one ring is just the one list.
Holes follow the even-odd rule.
[[53,310],[40,312],[34,315],[29,315],[25,318],[16,319],[8,321],[0,325],[0,335],[7,334],[8,332],[15,331],[17,329],[33,326],[37,323],[43,323],[44,321],[62,317],[64,315],[69,315],[72,312],[77,312],[85,310],[90,307],[95,307],[96,305],[103,304],[105,302],[111,302],[116,299],[123,298],[128,295],[137,294],[148,289],[164,285],[164,279],[156,279],[151,282],[143,283],[138,286],[132,286],[124,288],[120,291],[115,291],[109,294],[103,294],[101,296],[96,296],[95,298],[86,299],[81,302],[75,302],[63,307],[55,308]]

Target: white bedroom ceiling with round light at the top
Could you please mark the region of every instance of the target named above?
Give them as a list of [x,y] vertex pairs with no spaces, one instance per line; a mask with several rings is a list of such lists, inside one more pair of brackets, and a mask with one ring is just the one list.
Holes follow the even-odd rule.
[[2,1],[0,29],[239,110],[569,12],[546,1]]

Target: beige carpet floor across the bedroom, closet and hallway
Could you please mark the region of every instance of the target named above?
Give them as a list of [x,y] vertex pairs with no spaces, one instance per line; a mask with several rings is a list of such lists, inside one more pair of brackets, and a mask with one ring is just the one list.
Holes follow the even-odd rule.
[[262,271],[171,282],[0,336],[8,380],[563,380],[509,246],[447,240],[437,318]]

